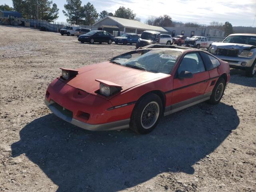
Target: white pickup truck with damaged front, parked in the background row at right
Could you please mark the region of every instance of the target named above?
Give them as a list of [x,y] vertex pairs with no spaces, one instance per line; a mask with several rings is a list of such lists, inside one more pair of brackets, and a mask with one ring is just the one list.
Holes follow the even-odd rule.
[[209,48],[212,45],[213,41],[208,41],[207,37],[202,36],[193,36],[191,38],[186,38],[183,46],[194,47],[194,48]]

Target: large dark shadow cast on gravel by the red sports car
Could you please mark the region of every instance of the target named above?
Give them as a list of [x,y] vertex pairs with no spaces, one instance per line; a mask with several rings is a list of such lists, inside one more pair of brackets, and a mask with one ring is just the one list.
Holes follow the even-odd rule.
[[150,134],[90,132],[53,114],[35,119],[12,144],[59,186],[59,192],[115,192],[162,172],[194,173],[193,165],[237,128],[232,106],[206,103],[162,118]]

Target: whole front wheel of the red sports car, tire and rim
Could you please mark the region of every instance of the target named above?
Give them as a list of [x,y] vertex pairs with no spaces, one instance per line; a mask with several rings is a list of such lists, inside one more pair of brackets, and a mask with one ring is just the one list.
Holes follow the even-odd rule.
[[151,132],[162,115],[162,100],[156,94],[143,96],[132,112],[130,129],[139,134]]

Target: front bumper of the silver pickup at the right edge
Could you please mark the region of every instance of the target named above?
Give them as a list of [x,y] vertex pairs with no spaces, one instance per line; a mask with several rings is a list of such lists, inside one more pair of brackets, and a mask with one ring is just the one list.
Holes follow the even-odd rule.
[[[251,67],[255,60],[255,58],[246,58],[246,57],[229,57],[229,56],[222,56],[222,55],[214,55],[214,56],[228,62],[230,67],[236,67],[236,68]],[[246,65],[242,65],[242,62],[246,62]]]

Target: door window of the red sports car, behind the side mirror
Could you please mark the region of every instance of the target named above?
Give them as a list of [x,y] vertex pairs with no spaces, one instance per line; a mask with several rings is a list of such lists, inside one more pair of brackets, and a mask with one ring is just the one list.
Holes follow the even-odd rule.
[[192,74],[204,72],[205,68],[201,56],[198,53],[186,54],[178,68],[179,74],[182,71],[189,71]]

